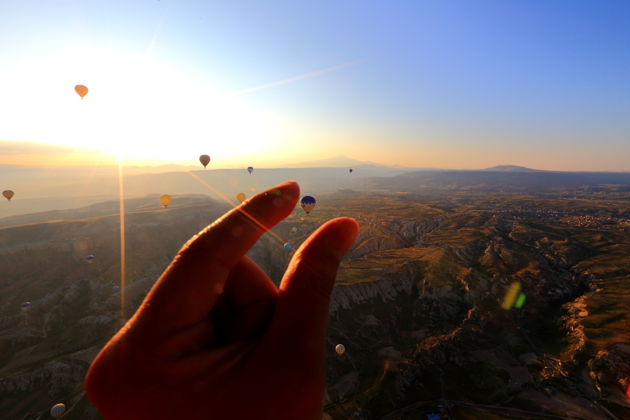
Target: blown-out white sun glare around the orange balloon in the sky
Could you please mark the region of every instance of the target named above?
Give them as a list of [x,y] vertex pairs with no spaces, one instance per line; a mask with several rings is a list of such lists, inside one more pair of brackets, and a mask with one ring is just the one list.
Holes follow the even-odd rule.
[[[102,150],[123,161],[188,162],[212,150],[213,160],[229,162],[276,137],[273,116],[174,65],[125,52],[72,50],[2,73],[16,81],[1,92],[7,139]],[[88,87],[84,99],[76,84]]]

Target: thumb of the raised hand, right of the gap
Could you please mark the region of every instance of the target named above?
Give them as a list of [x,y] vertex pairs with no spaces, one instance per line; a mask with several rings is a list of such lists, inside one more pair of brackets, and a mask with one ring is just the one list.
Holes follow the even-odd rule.
[[[295,253],[280,283],[269,336],[284,349],[293,348],[301,363],[323,363],[328,305],[341,258],[358,234],[347,217],[319,228]],[[309,357],[310,355],[310,357]]]

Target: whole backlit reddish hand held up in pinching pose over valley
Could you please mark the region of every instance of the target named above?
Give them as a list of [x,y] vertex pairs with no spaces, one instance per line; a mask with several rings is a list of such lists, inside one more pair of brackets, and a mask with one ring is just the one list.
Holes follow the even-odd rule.
[[330,293],[358,224],[319,227],[279,290],[245,255],[298,198],[294,181],[264,191],[181,249],[91,365],[105,419],[321,419]]

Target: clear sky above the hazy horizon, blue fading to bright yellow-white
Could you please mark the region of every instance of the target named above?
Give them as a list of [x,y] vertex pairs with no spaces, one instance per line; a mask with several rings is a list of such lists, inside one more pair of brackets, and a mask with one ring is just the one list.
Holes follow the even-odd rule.
[[627,171],[629,22],[621,1],[4,1],[0,139],[155,163]]

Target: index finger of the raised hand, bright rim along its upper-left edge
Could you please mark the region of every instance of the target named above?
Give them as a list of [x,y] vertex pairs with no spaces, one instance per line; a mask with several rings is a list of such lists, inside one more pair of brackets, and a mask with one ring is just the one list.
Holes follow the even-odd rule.
[[207,316],[229,271],[263,233],[292,212],[299,193],[295,181],[270,188],[193,236],[157,280],[137,317],[151,319],[167,332]]

